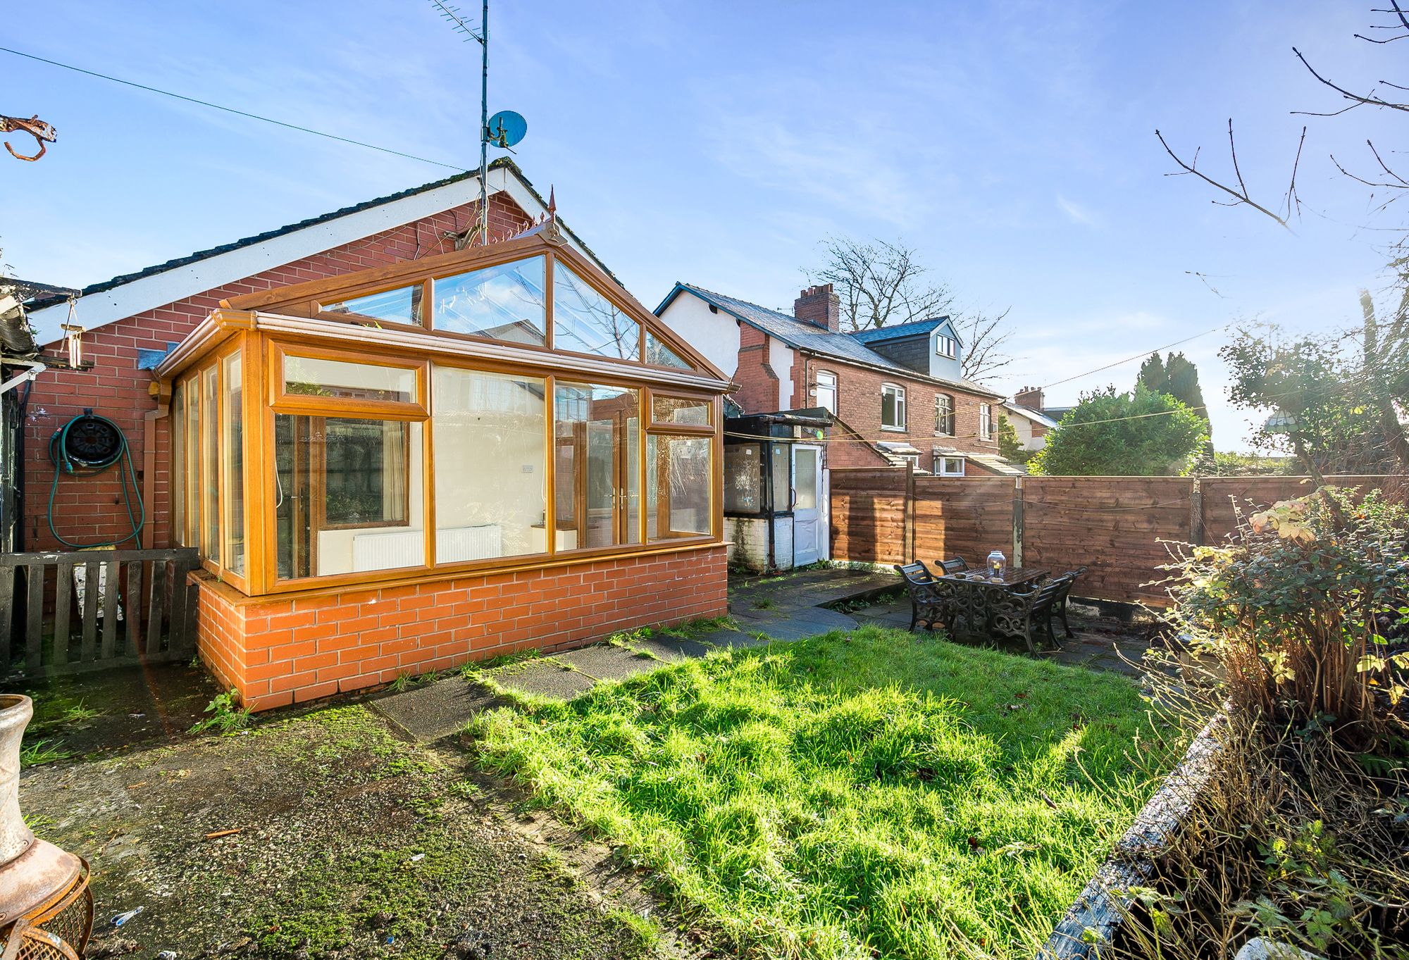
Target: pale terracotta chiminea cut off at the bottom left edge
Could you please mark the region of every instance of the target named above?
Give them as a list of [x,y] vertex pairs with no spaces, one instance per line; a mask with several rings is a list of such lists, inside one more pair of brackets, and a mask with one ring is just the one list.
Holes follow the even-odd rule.
[[[34,702],[18,694],[0,694],[0,942],[23,926],[44,926],[69,907],[87,899],[87,864],[48,840],[34,836],[20,815],[20,740],[34,716]],[[65,928],[70,923],[65,923]],[[69,929],[65,929],[69,933]],[[83,930],[87,939],[87,929]],[[82,950],[82,942],[75,943]]]

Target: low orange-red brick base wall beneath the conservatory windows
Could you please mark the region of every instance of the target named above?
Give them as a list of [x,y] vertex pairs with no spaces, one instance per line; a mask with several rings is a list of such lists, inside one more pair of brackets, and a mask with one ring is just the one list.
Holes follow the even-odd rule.
[[252,709],[728,612],[724,546],[279,597],[197,583],[200,656]]

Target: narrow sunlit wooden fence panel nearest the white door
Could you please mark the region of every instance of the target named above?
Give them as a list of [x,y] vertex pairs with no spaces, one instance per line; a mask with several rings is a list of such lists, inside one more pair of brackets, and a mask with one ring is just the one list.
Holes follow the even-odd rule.
[[833,559],[905,563],[909,483],[909,467],[833,467]]

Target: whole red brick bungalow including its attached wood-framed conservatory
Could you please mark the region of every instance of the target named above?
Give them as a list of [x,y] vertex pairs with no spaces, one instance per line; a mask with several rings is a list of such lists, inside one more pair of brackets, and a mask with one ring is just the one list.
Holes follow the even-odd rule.
[[[261,709],[726,612],[727,377],[511,162],[489,191],[488,246],[459,175],[31,303],[92,366],[27,397],[18,549],[199,549],[201,657]],[[85,410],[135,536],[116,470],[48,507]]]

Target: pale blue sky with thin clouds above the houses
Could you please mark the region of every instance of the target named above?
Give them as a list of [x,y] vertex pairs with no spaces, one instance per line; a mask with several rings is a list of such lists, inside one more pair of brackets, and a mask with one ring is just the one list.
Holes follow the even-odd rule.
[[[821,238],[899,239],[962,304],[1012,305],[1020,359],[995,386],[1014,390],[1233,321],[1355,322],[1401,221],[1327,153],[1365,169],[1391,118],[1312,121],[1295,232],[1165,176],[1154,130],[1224,173],[1234,117],[1243,175],[1277,201],[1306,122],[1288,111],[1339,107],[1291,48],[1368,86],[1395,59],[1351,37],[1370,6],[495,0],[490,108],[528,118],[517,162],[648,305],[685,280],[790,307]],[[24,4],[7,27],[6,46],[478,163],[478,46],[421,0]],[[27,279],[82,286],[447,173],[0,62],[0,113],[59,131],[38,163],[0,156],[0,246]],[[1216,445],[1241,449],[1226,338],[1179,349]]]

